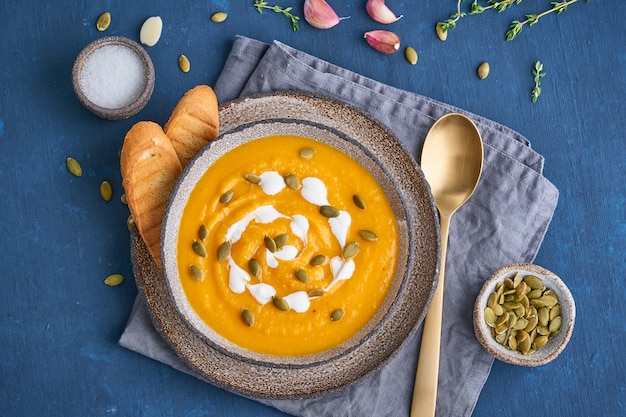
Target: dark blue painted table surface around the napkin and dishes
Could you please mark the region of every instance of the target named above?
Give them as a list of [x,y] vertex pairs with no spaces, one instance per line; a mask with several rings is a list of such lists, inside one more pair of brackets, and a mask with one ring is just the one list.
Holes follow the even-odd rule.
[[[270,4],[276,4],[270,0]],[[554,362],[521,368],[496,361],[475,416],[626,415],[626,4],[578,1],[506,42],[510,22],[549,7],[525,1],[504,13],[468,16],[439,41],[434,25],[456,0],[387,4],[404,18],[389,27],[364,0],[331,1],[351,18],[320,31],[259,15],[252,0],[0,3],[0,416],[281,416],[282,413],[177,372],[118,346],[137,293],[129,257],[128,209],[119,150],[139,120],[163,124],[189,88],[214,84],[234,37],[280,40],[375,80],[501,122],[546,158],[559,204],[536,263],[560,275],[578,307],[567,349]],[[302,1],[284,0],[302,16]],[[464,7],[469,6],[468,2]],[[95,29],[111,12],[107,32]],[[229,13],[211,23],[216,11]],[[156,70],[148,105],[105,121],[76,99],[72,64],[103,35],[139,39],[159,15],[159,43],[147,48]],[[372,50],[363,33],[397,32],[419,62]],[[403,49],[403,48],[402,48]],[[180,54],[191,71],[177,66]],[[532,64],[547,75],[530,100]],[[482,61],[491,65],[476,77]],[[84,175],[67,172],[73,156]],[[104,202],[99,184],[114,196]],[[103,284],[112,273],[126,282]]]

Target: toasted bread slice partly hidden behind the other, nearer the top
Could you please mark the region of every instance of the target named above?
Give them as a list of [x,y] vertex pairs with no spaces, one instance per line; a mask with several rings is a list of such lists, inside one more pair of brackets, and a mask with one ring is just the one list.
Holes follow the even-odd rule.
[[219,126],[215,92],[208,85],[198,85],[178,101],[163,130],[184,168],[204,145],[219,136]]

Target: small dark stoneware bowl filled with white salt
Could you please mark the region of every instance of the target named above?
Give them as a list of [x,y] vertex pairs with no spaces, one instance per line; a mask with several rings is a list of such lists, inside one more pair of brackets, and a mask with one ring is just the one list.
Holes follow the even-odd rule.
[[74,91],[95,115],[126,119],[148,103],[154,89],[154,66],[137,42],[106,36],[87,45],[72,68]]

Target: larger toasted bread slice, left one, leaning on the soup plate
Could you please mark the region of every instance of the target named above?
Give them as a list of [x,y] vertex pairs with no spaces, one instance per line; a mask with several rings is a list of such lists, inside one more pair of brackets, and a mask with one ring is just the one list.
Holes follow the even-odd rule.
[[135,226],[156,265],[161,263],[161,224],[182,166],[161,126],[138,122],[126,134],[120,155],[122,185]]

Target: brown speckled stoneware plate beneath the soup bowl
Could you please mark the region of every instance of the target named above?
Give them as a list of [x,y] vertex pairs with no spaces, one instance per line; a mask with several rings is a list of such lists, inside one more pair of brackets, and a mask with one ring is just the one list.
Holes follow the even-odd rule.
[[327,97],[293,91],[254,95],[220,107],[222,132],[275,117],[315,121],[357,140],[371,136],[374,131],[388,138],[385,150],[398,154],[403,161],[404,165],[391,167],[391,175],[396,179],[402,177],[399,181],[414,184],[415,205],[408,210],[416,222],[414,250],[420,258],[414,274],[407,281],[406,290],[403,290],[403,293],[412,295],[405,296],[402,303],[394,305],[401,310],[404,320],[393,335],[393,343],[380,339],[379,333],[376,333],[362,344],[376,346],[376,349],[370,350],[370,356],[354,349],[338,359],[311,363],[306,367],[241,360],[236,355],[215,349],[189,328],[169,296],[162,270],[156,267],[145,244],[136,234],[131,255],[137,286],[155,328],[194,374],[216,386],[250,397],[312,398],[344,389],[380,369],[414,334],[424,319],[436,286],[439,226],[430,189],[415,160],[386,127],[365,113]]

